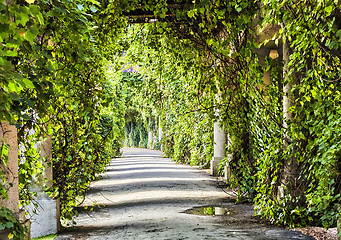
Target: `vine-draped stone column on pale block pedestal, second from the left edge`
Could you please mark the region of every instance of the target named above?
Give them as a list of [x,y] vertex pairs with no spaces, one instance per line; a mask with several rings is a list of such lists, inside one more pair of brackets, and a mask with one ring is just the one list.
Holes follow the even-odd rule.
[[[46,186],[53,185],[52,170],[52,141],[47,136],[44,141],[37,144],[40,152],[41,161],[45,167],[44,178],[47,180]],[[40,179],[43,180],[43,179]],[[60,211],[59,200],[48,196],[42,189],[41,185],[36,185],[34,191],[37,192],[37,198],[33,201],[37,203],[37,207],[30,204],[28,207],[28,216],[31,220],[31,237],[41,237],[49,234],[55,234],[60,230]]]

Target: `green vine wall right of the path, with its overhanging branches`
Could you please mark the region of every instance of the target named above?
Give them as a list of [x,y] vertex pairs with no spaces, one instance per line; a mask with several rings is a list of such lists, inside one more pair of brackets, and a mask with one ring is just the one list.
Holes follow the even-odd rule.
[[[161,107],[165,153],[191,162],[196,146],[212,147],[212,136],[198,141],[193,130],[198,123],[200,137],[212,133],[212,122],[201,121],[214,120],[216,109],[228,135],[224,164],[238,199],[254,201],[257,213],[274,223],[335,226],[341,184],[340,3],[178,4],[147,5],[158,21],[130,31],[135,36],[130,44],[140,46],[139,51],[129,46],[130,61],[162,86],[156,88],[162,97],[151,103]],[[278,56],[270,58],[271,49]],[[264,82],[267,74],[271,81]]]

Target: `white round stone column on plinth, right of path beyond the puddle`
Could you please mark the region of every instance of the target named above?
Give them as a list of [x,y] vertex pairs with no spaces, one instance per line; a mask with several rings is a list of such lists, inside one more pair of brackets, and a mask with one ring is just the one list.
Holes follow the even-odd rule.
[[220,127],[220,121],[214,122],[214,154],[211,160],[211,174],[218,175],[219,164],[225,158],[226,134]]

